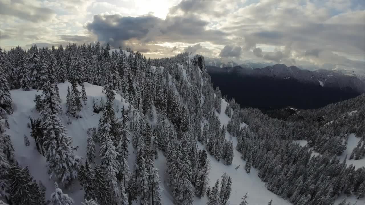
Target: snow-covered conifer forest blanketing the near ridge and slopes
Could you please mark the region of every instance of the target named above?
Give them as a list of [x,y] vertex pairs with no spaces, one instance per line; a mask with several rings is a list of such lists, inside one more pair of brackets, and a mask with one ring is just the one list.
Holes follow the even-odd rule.
[[214,90],[201,55],[0,49],[0,204],[364,204],[364,104],[284,121]]

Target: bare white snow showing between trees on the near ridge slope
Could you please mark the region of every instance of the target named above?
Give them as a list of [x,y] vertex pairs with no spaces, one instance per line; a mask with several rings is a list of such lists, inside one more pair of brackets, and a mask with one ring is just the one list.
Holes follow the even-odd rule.
[[[101,97],[103,97],[104,103],[106,102],[106,96],[101,92],[102,87],[91,85],[85,82],[85,90],[88,96],[87,105],[84,105],[82,108],[80,115],[82,118],[79,119],[71,119],[72,124],[67,124],[67,116],[65,115],[66,110],[66,95],[67,95],[67,86],[71,86],[69,82],[58,84],[59,94],[61,97],[61,105],[63,109],[62,116],[59,117],[62,119],[63,124],[66,126],[66,130],[68,135],[73,138],[73,146],[80,146],[75,154],[85,158],[86,156],[86,131],[88,128],[96,127],[99,123],[99,118],[102,115],[102,112],[99,114],[94,113],[92,109],[92,100],[95,97],[96,103],[100,102]],[[78,89],[81,91],[81,86],[78,86]],[[30,174],[34,177],[35,180],[41,180],[42,183],[46,186],[46,198],[48,199],[51,193],[54,192],[54,184],[53,181],[49,179],[46,168],[46,159],[42,155],[40,155],[35,147],[34,139],[30,137],[31,129],[27,127],[27,123],[29,122],[28,116],[38,118],[39,113],[35,110],[35,102],[33,101],[35,98],[35,94],[41,94],[42,90],[30,90],[23,91],[19,90],[11,90],[11,95],[13,99],[14,106],[14,114],[8,116],[8,121],[10,125],[10,129],[7,129],[7,134],[11,136],[12,143],[15,149],[15,156],[18,162],[22,167],[28,166]],[[122,100],[122,101],[121,101]],[[125,100],[119,95],[115,95],[114,100],[114,109],[119,105],[119,109],[123,106],[128,107],[128,103],[125,103]],[[227,102],[222,100],[222,111],[220,114],[216,113],[221,120],[222,125],[226,124],[230,118],[224,113],[226,109]],[[155,115],[155,108],[154,115]],[[120,112],[116,113],[116,117],[120,117]],[[156,119],[156,118],[155,118]],[[155,124],[154,121],[150,121],[151,124]],[[245,126],[244,123],[241,126]],[[30,140],[30,146],[24,146],[24,138],[23,136],[27,135]],[[131,135],[132,137],[132,135]],[[231,135],[226,132],[226,139],[229,140],[232,138],[234,146],[237,145],[237,139],[231,137]],[[198,142],[198,146],[200,149],[204,149],[204,146]],[[135,161],[134,148],[132,144],[129,145],[130,156],[128,157],[128,165],[132,169]],[[99,146],[96,144],[96,155],[99,153]],[[162,204],[173,204],[173,196],[170,192],[169,187],[167,186],[167,178],[165,175],[166,170],[166,158],[161,153],[158,152],[158,159],[155,160],[155,166],[159,169],[159,174],[161,178],[161,186],[164,189],[162,193]],[[251,168],[251,173],[247,174],[245,171],[245,161],[241,158],[241,154],[234,148],[234,159],[233,163],[230,166],[226,166],[223,164],[222,160],[218,162],[214,157],[208,154],[208,158],[211,162],[211,173],[209,176],[210,186],[213,187],[216,179],[221,179],[221,176],[224,172],[227,175],[230,175],[233,178],[232,182],[232,192],[231,197],[229,199],[230,204],[239,204],[241,202],[241,197],[243,197],[246,192],[248,192],[247,201],[249,204],[263,205],[267,204],[270,199],[273,199],[273,205],[289,205],[288,201],[280,198],[276,194],[270,192],[266,189],[265,183],[261,181],[261,179],[257,176],[258,171],[254,168]],[[99,159],[96,159],[96,162],[99,162]],[[235,170],[235,167],[240,165],[238,170]],[[75,201],[75,205],[80,205],[84,198],[84,193],[81,189],[81,186],[76,182],[74,187],[70,190],[63,190],[64,193],[69,194]],[[207,203],[207,196],[202,198],[194,198],[193,204],[202,205]],[[133,204],[139,204],[139,201],[133,201]]]

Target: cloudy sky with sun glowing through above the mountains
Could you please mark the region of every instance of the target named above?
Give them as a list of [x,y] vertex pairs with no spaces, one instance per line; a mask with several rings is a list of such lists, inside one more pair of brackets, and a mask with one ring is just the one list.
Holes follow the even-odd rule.
[[365,74],[365,0],[0,1],[0,46],[69,42]]

